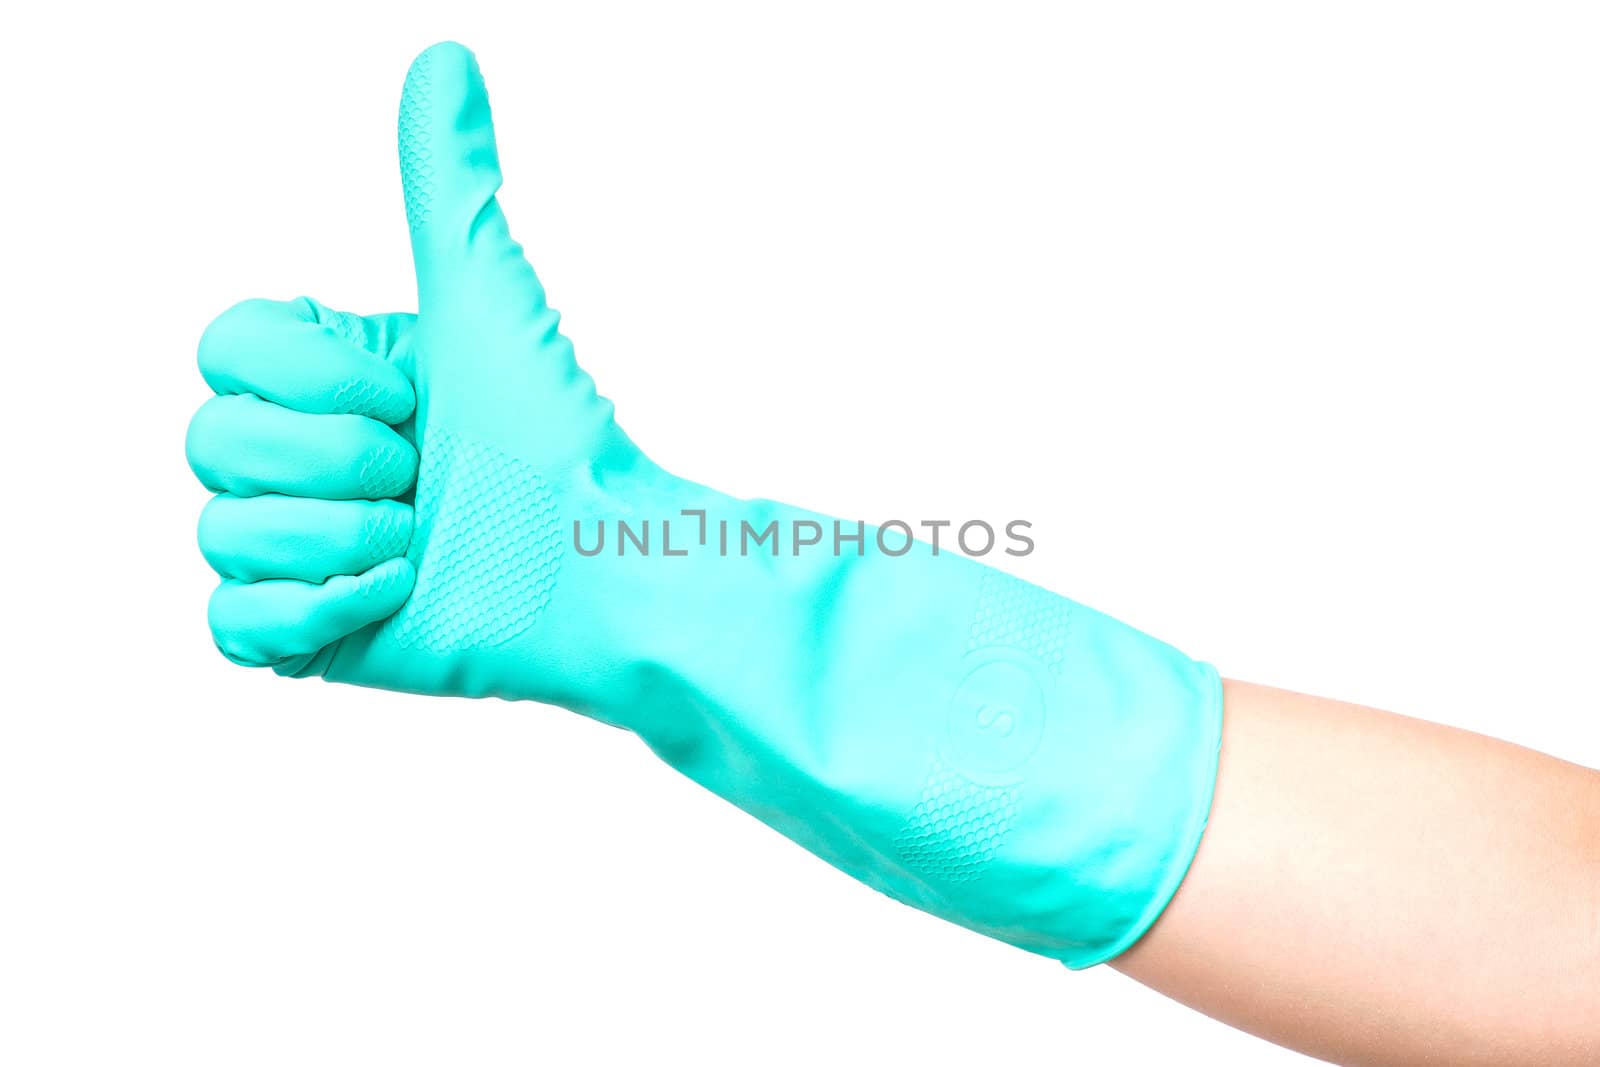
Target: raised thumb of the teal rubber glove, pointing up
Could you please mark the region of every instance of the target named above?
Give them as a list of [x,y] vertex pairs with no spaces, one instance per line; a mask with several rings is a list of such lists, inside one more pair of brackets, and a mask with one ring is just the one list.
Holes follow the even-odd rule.
[[398,133],[418,310],[478,323],[542,310],[544,290],[494,198],[494,120],[470,51],[443,42],[411,62]]

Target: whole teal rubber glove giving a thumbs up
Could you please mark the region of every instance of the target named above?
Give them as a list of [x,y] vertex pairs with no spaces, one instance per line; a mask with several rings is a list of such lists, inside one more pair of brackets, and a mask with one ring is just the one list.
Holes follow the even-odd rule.
[[459,45],[406,75],[400,165],[416,317],[250,301],[200,342],[222,653],[560,704],[899,901],[1070,966],[1131,945],[1206,822],[1216,672],[898,530],[653,464],[510,238]]

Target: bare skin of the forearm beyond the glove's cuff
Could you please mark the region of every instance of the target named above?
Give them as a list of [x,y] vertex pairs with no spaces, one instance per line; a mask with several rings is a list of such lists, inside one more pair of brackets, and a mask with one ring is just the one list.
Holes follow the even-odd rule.
[[1205,841],[1115,968],[1338,1064],[1600,1064],[1600,773],[1224,689]]

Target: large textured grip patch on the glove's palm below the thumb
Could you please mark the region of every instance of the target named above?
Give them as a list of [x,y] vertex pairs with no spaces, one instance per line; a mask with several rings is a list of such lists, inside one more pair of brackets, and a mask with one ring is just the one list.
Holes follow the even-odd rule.
[[563,549],[555,498],[533,467],[430,426],[408,552],[416,589],[395,640],[437,653],[509,641],[549,606]]

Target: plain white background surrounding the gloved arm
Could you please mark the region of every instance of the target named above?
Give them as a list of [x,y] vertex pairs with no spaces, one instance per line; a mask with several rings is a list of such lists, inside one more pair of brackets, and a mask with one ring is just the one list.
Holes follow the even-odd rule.
[[216,654],[195,341],[243,296],[413,307],[395,107],[442,37],[669,469],[1027,517],[1016,573],[1224,673],[1600,763],[1587,5],[30,6],[6,1064],[1304,1062],[862,889],[626,734]]

